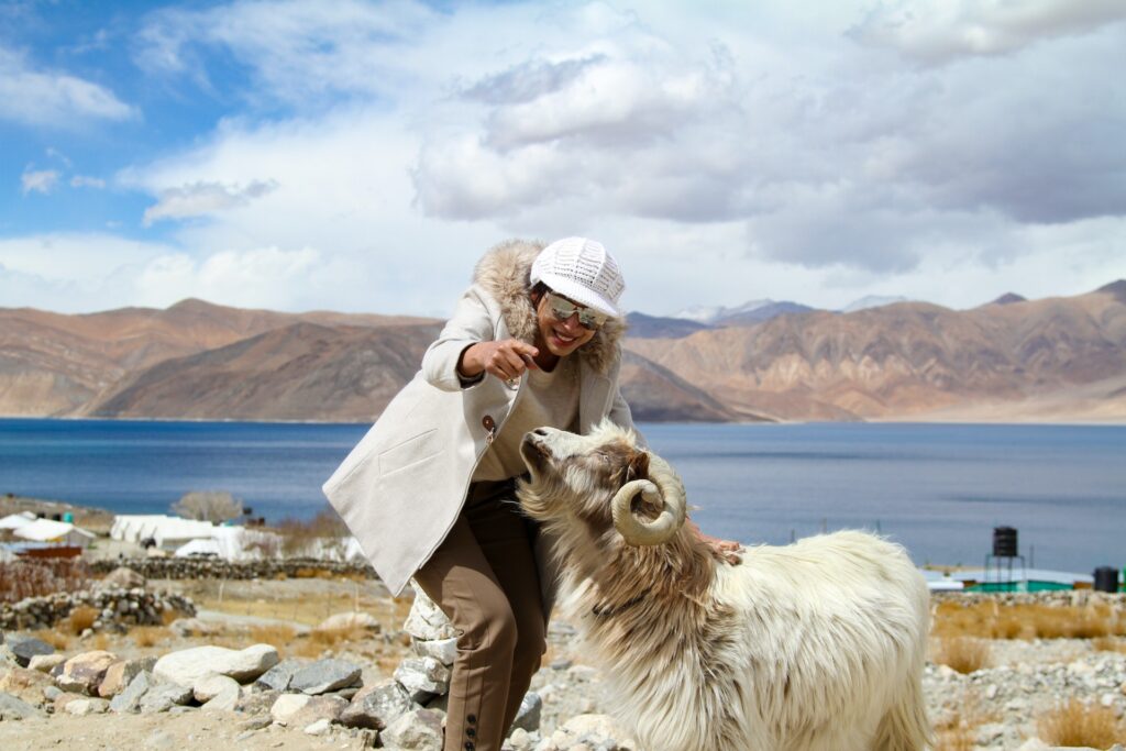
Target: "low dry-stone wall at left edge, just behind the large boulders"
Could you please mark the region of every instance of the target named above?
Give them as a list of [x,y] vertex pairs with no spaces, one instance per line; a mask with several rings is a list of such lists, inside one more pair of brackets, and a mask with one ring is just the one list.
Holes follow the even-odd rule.
[[78,607],[93,608],[98,616],[92,631],[123,626],[160,626],[164,613],[196,615],[189,598],[143,589],[104,589],[100,591],[57,592],[46,597],[29,597],[19,602],[0,605],[0,629],[37,631],[52,628]]

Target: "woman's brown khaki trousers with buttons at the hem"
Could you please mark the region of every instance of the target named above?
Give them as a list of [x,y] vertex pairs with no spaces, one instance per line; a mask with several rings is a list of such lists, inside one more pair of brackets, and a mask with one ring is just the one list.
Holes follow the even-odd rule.
[[414,574],[458,632],[444,751],[500,751],[546,650],[535,527],[515,483],[470,486],[461,516]]

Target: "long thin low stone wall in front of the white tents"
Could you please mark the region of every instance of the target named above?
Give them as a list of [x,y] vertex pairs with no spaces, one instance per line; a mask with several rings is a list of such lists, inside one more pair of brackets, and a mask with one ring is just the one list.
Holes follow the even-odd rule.
[[93,561],[96,574],[128,566],[145,579],[302,579],[330,574],[375,579],[367,563],[345,563],[315,558],[275,558],[234,563],[221,558],[128,558]]

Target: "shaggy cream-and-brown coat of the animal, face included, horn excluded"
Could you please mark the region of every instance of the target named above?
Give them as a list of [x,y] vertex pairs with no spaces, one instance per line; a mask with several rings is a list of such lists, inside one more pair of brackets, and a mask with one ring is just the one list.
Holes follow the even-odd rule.
[[[518,495],[557,537],[563,606],[646,749],[927,745],[928,590],[903,548],[841,531],[752,547],[729,565],[683,527],[629,545],[613,521],[618,489],[649,477],[683,493],[631,431],[539,429],[522,450],[531,480]],[[633,500],[643,522],[661,511],[652,499]]]

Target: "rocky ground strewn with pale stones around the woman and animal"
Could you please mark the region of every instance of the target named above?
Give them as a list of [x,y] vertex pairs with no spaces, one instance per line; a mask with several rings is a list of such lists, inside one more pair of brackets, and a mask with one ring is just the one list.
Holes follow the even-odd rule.
[[[227,582],[222,602],[191,582],[161,584],[177,587],[178,596],[195,588],[188,593],[209,607],[163,627],[56,638],[59,650],[25,632],[6,634],[5,750],[440,748],[453,641],[425,602],[405,617],[408,602],[391,600],[375,583],[360,592],[355,582]],[[267,609],[272,602],[288,611],[287,594],[307,605],[333,590],[363,613],[321,623],[318,610],[329,606],[292,606],[296,619]],[[556,619],[548,641],[507,748],[635,748],[606,716],[613,701],[574,628]],[[924,692],[936,726],[960,726],[968,737],[940,748],[1043,750],[1051,746],[1037,737],[1039,719],[1064,699],[1106,707],[1119,721],[1126,715],[1126,642],[994,640],[986,667],[968,674],[929,662]]]

